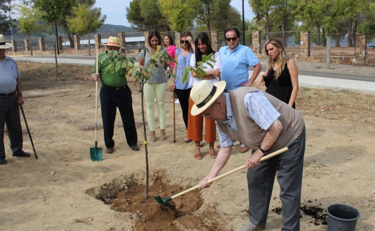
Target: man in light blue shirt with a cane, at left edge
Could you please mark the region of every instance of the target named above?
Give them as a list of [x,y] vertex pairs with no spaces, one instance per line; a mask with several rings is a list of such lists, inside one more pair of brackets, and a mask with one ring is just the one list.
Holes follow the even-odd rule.
[[20,71],[15,60],[5,55],[12,47],[0,34],[0,164],[7,164],[4,148],[4,125],[10,140],[12,156],[30,157],[22,150],[22,127],[18,105],[23,105]]

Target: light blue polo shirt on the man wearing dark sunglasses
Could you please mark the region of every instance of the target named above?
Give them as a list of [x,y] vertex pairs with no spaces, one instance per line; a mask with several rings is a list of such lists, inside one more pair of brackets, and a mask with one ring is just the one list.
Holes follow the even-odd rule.
[[221,61],[221,80],[225,80],[227,91],[239,88],[249,81],[249,66],[254,67],[259,59],[247,46],[239,44],[233,51],[228,46],[219,50]]

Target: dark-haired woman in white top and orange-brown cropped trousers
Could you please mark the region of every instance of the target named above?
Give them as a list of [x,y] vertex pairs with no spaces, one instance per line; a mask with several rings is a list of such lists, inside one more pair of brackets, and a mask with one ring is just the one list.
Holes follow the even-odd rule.
[[[203,64],[203,66],[207,67],[204,69],[206,75],[203,76],[202,79],[207,80],[212,85],[219,82],[220,80],[220,56],[218,52],[215,52],[212,47],[210,40],[208,39],[208,35],[204,32],[198,34],[195,39],[195,55],[192,55],[190,58],[190,65],[192,67],[197,67],[198,62],[202,61],[202,57],[204,55],[212,55],[212,59],[216,60],[216,63],[208,61],[208,63],[212,64],[213,68],[208,64]],[[192,78],[189,80],[191,86],[194,86],[196,83],[201,81],[201,78],[196,75],[195,72],[191,72]],[[203,116],[196,115],[192,116],[190,114],[191,108],[193,107],[194,102],[191,98],[189,98],[189,119],[187,125],[187,138],[192,139],[195,142],[195,159],[202,159],[201,149],[200,149],[200,142],[203,139]],[[212,158],[216,158],[217,153],[214,150],[214,142],[216,141],[216,124],[215,121],[209,118],[210,116],[205,116],[205,141],[210,144],[210,156]]]

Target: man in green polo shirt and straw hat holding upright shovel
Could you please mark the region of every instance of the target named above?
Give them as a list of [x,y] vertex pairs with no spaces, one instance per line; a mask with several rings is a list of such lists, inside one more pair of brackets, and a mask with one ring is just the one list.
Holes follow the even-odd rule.
[[[107,48],[106,53],[118,51],[121,46],[121,39],[117,37],[109,37],[108,43],[102,44]],[[99,55],[99,60],[102,57]],[[94,66],[92,79],[101,81],[100,103],[102,109],[104,143],[106,153],[113,153],[115,145],[113,137],[114,122],[116,118],[116,108],[120,111],[127,144],[133,151],[139,151],[137,145],[138,137],[134,122],[134,113],[132,106],[132,91],[126,84],[125,69],[111,73],[107,70],[108,60],[99,63],[98,74],[96,74],[96,64]]]

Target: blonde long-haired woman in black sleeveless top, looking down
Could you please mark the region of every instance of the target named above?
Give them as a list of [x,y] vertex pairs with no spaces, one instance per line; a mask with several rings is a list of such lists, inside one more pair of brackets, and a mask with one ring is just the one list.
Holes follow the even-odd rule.
[[270,39],[266,46],[268,66],[264,75],[257,78],[257,88],[266,85],[266,92],[296,109],[298,69],[285,52],[284,43],[278,37]]

